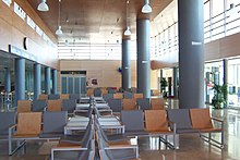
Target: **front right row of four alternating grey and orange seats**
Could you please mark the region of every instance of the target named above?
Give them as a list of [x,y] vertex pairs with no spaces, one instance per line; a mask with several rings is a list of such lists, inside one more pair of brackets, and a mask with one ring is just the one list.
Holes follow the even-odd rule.
[[[220,125],[214,126],[213,121]],[[169,109],[121,111],[121,121],[129,136],[148,134],[200,134],[204,140],[224,148],[224,122],[211,118],[209,109]],[[204,134],[208,133],[208,136]],[[212,133],[220,134],[220,141],[212,138]],[[175,140],[173,140],[175,141]]]

